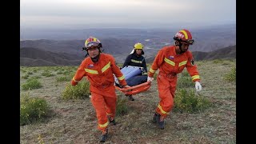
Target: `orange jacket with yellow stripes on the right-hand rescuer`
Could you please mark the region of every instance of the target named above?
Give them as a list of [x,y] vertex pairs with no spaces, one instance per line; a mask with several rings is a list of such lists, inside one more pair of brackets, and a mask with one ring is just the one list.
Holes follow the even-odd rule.
[[165,46],[158,51],[148,75],[152,78],[158,68],[159,73],[176,75],[181,73],[185,67],[193,82],[200,81],[192,53],[187,50],[183,54],[176,54],[175,46]]

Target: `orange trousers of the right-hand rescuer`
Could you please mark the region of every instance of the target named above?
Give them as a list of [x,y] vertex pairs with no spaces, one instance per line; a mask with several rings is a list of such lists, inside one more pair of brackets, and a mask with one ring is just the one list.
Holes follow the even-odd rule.
[[163,118],[166,118],[167,114],[169,114],[174,107],[174,94],[177,85],[177,75],[167,77],[166,74],[159,73],[157,82],[160,102],[158,102],[156,112],[161,114]]

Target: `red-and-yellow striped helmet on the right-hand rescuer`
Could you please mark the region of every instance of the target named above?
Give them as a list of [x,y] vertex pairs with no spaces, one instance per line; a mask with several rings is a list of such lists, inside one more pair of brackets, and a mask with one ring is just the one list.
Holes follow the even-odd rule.
[[192,34],[189,30],[179,30],[178,33],[175,34],[174,40],[181,42],[188,42],[190,45],[194,43],[194,39],[192,39]]

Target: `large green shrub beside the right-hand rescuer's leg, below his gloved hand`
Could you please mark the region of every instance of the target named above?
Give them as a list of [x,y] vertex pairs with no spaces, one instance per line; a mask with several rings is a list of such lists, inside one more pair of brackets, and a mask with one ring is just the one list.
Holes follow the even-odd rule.
[[210,106],[210,101],[205,97],[196,95],[193,90],[177,90],[174,98],[174,111],[194,113],[203,111]]

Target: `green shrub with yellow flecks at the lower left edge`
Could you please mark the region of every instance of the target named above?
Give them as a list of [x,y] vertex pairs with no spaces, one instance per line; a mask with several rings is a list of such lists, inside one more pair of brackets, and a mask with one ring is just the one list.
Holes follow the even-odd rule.
[[50,113],[50,106],[43,98],[31,98],[29,94],[21,96],[20,126],[42,122]]

